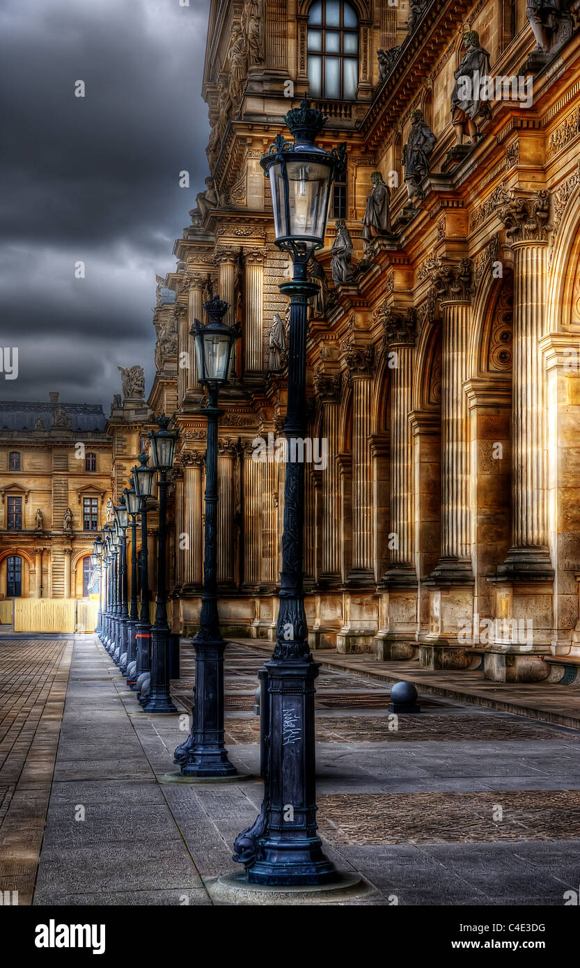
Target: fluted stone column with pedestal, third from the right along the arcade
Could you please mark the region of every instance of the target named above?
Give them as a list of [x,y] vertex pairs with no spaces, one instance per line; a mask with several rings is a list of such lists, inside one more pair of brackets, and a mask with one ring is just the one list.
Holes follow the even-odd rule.
[[379,659],[412,658],[416,653],[416,590],[413,564],[412,367],[416,339],[414,310],[387,310],[382,349],[390,374],[389,564],[377,590],[382,597],[381,628],[375,639]]

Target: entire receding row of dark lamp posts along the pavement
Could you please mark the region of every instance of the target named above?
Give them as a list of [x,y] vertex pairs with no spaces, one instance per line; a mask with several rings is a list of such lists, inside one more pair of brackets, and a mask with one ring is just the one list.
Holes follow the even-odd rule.
[[[345,164],[344,145],[325,151],[316,145],[325,118],[303,101],[286,116],[294,143],[282,135],[261,160],[269,177],[277,246],[290,253],[291,281],[280,286],[290,296],[289,387],[285,435],[288,441],[285,477],[284,527],[280,608],[276,646],[259,673],[266,749],[264,794],[256,822],[235,840],[234,860],[244,864],[246,881],[265,887],[321,886],[341,880],[322,853],[316,824],[316,767],[314,681],[319,663],[308,645],[304,610],[303,529],[304,465],[296,460],[297,439],[307,433],[306,339],[308,303],[317,291],[308,281],[308,262],[324,244],[330,190],[334,175]],[[220,388],[228,381],[237,326],[223,318],[228,304],[218,296],[204,308],[208,322],[196,320],[198,380],[207,390],[206,486],[203,593],[196,650],[196,684],[192,730],[177,746],[175,763],[182,778],[229,777],[236,770],[224,743],[224,650],[220,632],[217,585],[218,407]],[[177,434],[168,419],[158,420],[151,433],[153,466],[139,455],[132,486],[115,512],[115,522],[104,538],[95,541],[102,562],[104,601],[99,634],[131,686],[141,689],[146,711],[175,711],[168,691],[168,619],[166,590],[167,474],[173,463]],[[293,459],[292,459],[293,455]],[[155,623],[148,616],[146,514],[153,478],[159,474],[159,557]],[[137,618],[137,517],[141,519],[140,616]],[[132,529],[132,598],[127,601],[127,541]],[[150,648],[149,648],[150,647]],[[143,688],[149,677],[148,692]],[[262,707],[263,711],[263,707]]]

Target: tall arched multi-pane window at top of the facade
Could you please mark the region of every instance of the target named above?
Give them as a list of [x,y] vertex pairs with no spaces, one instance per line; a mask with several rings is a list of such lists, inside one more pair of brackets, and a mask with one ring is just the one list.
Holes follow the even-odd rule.
[[308,13],[312,98],[354,101],[358,86],[358,18],[345,0],[317,0]]

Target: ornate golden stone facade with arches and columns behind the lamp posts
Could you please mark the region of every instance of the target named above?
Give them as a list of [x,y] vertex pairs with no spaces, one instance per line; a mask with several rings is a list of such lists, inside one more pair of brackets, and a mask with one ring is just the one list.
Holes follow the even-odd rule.
[[[268,337],[273,314],[285,318],[278,284],[290,267],[273,244],[259,158],[314,83],[315,8],[250,6],[265,17],[261,53],[256,38],[244,42],[248,3],[210,6],[211,179],[176,242],[176,271],[160,281],[174,295],[155,311],[149,403],[175,410],[180,428],[175,534],[188,540],[174,545],[174,621],[191,632],[205,421],[189,330],[218,292],[242,324],[221,397],[221,617],[229,634],[272,639],[284,465],[252,452],[255,438],[277,438],[285,414],[284,360],[268,371]],[[355,96],[314,99],[328,117],[319,142],[345,142],[348,165],[317,254],[308,341],[310,434],[327,445],[324,466],[307,469],[311,642],[427,668],[481,666],[498,681],[570,681],[580,661],[580,34],[570,28],[538,57],[526,0],[412,4],[411,21],[407,4],[345,6],[358,37]],[[473,143],[461,144],[450,96],[469,32],[491,76],[519,77],[533,96],[525,107],[488,101]],[[417,109],[436,143],[411,201],[401,158]],[[390,187],[392,232],[363,246],[376,171]],[[354,278],[333,286],[338,218]]]

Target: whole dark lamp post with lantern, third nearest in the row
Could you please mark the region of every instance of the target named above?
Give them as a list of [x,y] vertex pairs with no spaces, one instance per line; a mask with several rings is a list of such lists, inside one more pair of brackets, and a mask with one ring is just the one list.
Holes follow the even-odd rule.
[[151,431],[151,460],[159,472],[159,529],[157,535],[157,602],[151,630],[151,688],[143,709],[147,712],[176,712],[169,695],[169,625],[166,579],[168,514],[168,471],[173,467],[178,432],[168,430],[165,413],[157,418],[159,430]]

